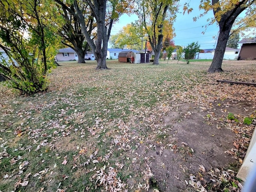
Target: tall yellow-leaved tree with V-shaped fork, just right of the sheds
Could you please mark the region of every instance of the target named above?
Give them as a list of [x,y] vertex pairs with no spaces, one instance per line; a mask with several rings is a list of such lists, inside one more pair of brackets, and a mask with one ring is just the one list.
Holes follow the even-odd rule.
[[[162,50],[162,42],[164,39],[164,31],[172,32],[172,30],[164,30],[172,28],[176,13],[175,0],[142,0],[143,27],[148,35],[148,41],[155,53],[153,64],[158,65],[160,52]],[[168,16],[168,17],[167,17]],[[167,20],[170,18],[170,20]],[[170,37],[173,34],[169,34]]]

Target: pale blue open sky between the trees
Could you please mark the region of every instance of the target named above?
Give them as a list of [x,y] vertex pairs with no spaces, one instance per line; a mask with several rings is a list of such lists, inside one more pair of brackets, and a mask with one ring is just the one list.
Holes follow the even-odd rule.
[[[216,48],[216,39],[213,36],[218,35],[219,28],[216,24],[209,26],[206,30],[204,26],[208,24],[207,19],[213,18],[213,12],[210,11],[206,16],[193,21],[193,17],[199,16],[203,11],[198,9],[200,1],[190,0],[190,7],[193,11],[190,14],[182,14],[182,5],[187,0],[180,0],[180,12],[177,14],[176,22],[174,23],[176,36],[174,37],[175,45],[187,46],[192,42],[197,42],[201,49]],[[136,15],[123,15],[120,17],[119,22],[113,25],[111,34],[116,34],[123,26],[138,20]],[[205,32],[205,34],[202,34]],[[215,46],[214,46],[215,45]]]

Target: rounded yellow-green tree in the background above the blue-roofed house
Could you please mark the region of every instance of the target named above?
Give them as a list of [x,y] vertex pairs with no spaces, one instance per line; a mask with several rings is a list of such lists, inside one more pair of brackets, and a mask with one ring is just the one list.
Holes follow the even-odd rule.
[[134,22],[124,26],[116,35],[110,37],[111,44],[116,48],[140,50],[142,30]]

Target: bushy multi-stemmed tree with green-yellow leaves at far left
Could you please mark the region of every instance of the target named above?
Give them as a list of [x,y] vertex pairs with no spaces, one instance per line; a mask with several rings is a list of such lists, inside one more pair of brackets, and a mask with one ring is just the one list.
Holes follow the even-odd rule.
[[[8,60],[0,63],[0,73],[23,93],[44,91],[46,72],[56,55],[53,15],[49,0],[0,1],[0,47]],[[45,14],[45,13],[48,14]]]

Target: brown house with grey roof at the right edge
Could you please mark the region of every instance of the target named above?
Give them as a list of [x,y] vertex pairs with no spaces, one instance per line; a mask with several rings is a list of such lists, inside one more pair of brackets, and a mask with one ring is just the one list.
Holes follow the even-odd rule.
[[242,44],[238,60],[255,60],[256,59],[256,37],[243,38],[239,44]]

